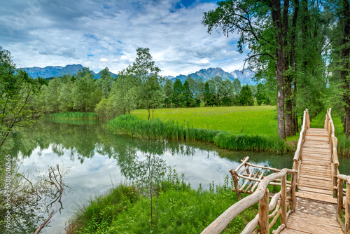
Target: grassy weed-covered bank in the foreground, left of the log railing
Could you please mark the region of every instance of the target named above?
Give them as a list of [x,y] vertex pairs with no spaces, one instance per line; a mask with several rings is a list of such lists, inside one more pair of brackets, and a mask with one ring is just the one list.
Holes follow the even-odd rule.
[[[152,202],[149,188],[119,185],[80,207],[67,233],[200,233],[237,202],[228,181],[195,190],[175,172],[155,186]],[[258,204],[246,209],[223,233],[240,233],[257,212]]]

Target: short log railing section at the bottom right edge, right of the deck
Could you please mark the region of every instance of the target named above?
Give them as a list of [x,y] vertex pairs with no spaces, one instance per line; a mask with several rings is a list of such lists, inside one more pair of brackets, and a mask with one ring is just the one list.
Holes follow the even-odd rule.
[[[337,216],[340,217],[342,210],[345,209],[345,230],[344,234],[350,234],[350,176],[344,174],[338,174],[338,187],[337,187]],[[346,188],[343,188],[343,183],[346,182]],[[345,200],[344,200],[344,195]]]

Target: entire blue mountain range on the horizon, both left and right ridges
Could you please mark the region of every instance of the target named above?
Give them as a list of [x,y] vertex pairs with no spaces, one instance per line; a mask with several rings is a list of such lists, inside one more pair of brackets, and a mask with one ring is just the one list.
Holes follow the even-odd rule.
[[[32,78],[37,78],[38,76],[41,76],[42,78],[50,78],[50,77],[60,77],[64,74],[71,74],[71,76],[77,74],[77,72],[80,69],[83,69],[83,65],[81,64],[71,64],[66,65],[66,67],[61,66],[48,66],[48,67],[25,67],[23,68]],[[101,72],[101,71],[100,71]],[[92,71],[92,74],[94,74],[94,78],[99,78],[99,73],[94,73]],[[113,77],[116,77],[116,74],[113,74],[111,72],[111,75]],[[244,69],[244,72],[235,70],[232,72],[227,72],[221,69],[220,67],[216,68],[208,68],[208,69],[200,69],[200,71],[196,71],[193,74],[186,75],[179,75],[179,76],[165,76],[165,78],[171,79],[172,81],[175,81],[177,78],[180,79],[180,81],[183,83],[186,81],[186,78],[188,76],[191,76],[194,79],[201,78],[202,81],[208,81],[210,78],[214,76],[221,76],[223,80],[229,79],[230,81],[234,81],[236,78],[241,81],[241,84],[248,84],[248,85],[255,85],[256,82],[252,80],[253,76],[255,75],[255,72],[251,69]]]

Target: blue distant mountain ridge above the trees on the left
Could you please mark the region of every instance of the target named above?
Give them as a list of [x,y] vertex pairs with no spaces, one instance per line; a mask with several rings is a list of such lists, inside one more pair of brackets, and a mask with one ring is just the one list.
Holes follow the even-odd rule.
[[[83,65],[81,64],[71,64],[66,65],[66,67],[60,67],[60,66],[48,66],[48,67],[25,67],[23,68],[29,76],[32,78],[38,78],[41,76],[42,78],[50,78],[50,77],[61,77],[63,75],[71,74],[71,76],[76,75],[80,69],[83,69]],[[101,71],[100,71],[101,72]],[[99,78],[100,72],[98,74],[94,73],[92,71],[92,74],[94,74],[94,78]],[[111,72],[111,75],[116,78],[116,74],[113,74]]]

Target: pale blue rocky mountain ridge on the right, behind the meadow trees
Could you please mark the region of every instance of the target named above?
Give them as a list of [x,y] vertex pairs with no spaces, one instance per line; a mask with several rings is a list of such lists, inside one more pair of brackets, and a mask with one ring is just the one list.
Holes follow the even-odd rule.
[[[245,69],[244,73],[242,73],[239,70],[232,71],[230,73],[224,71],[220,67],[216,68],[209,68],[209,69],[200,69],[200,71],[196,71],[193,74],[189,74],[192,78],[198,79],[201,78],[202,81],[208,81],[210,78],[214,76],[220,76],[223,78],[223,80],[229,79],[230,81],[234,81],[236,78],[241,81],[241,84],[248,84],[248,85],[255,85],[256,82],[252,80],[253,76],[255,75],[255,72],[251,69]],[[165,78],[171,79],[173,82],[176,79],[180,79],[180,81],[183,83],[186,81],[186,78],[189,76],[185,75],[179,75],[179,76],[165,76]]]

